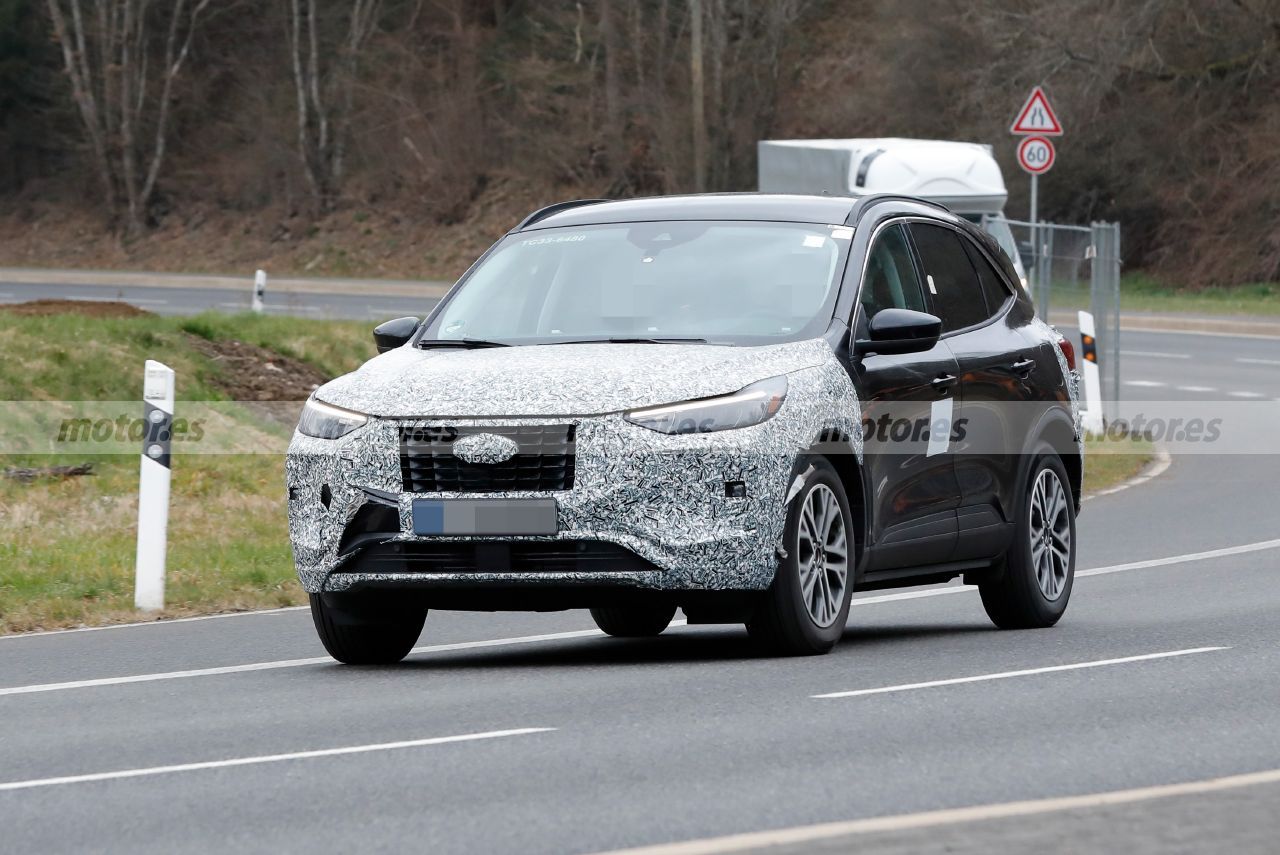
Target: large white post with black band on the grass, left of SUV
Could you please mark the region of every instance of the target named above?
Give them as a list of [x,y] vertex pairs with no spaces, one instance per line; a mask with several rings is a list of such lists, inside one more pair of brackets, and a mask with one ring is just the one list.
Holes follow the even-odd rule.
[[133,581],[133,604],[147,612],[164,608],[173,392],[173,369],[147,360],[142,381],[146,434],[142,438],[142,471],[138,477],[138,553]]

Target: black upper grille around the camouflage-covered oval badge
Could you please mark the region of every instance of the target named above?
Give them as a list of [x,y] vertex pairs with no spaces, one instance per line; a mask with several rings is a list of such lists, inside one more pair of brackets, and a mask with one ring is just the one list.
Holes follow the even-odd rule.
[[[453,443],[472,434],[497,434],[520,452],[502,463],[468,463]],[[497,427],[401,426],[401,474],[410,493],[506,493],[573,488],[573,425]]]

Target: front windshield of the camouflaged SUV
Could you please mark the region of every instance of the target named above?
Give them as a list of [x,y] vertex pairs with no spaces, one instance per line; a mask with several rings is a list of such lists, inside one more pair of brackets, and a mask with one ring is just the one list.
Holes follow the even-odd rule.
[[851,233],[664,221],[511,234],[463,279],[422,340],[814,338],[831,320]]

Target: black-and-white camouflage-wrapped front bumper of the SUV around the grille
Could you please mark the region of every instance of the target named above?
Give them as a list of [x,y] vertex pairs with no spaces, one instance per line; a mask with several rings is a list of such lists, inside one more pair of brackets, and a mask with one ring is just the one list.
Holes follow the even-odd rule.
[[[302,586],[310,593],[376,584],[406,587],[547,584],[608,585],[652,590],[762,590],[773,580],[786,520],[785,498],[799,452],[823,431],[856,436],[858,402],[835,364],[790,375],[790,392],[771,420],[713,434],[666,435],[620,413],[572,419],[379,420],[338,440],[294,434],[285,465],[289,536]],[[408,493],[401,468],[402,426],[497,427],[573,424],[573,486],[557,491]],[[850,447],[851,453],[860,447]],[[741,481],[745,495],[726,495]],[[412,530],[415,498],[557,499],[558,534],[550,538],[420,536]],[[353,538],[361,508],[396,515],[388,536]],[[367,520],[370,515],[364,515]],[[344,543],[346,535],[346,543]],[[355,540],[360,541],[352,548]],[[516,562],[529,549],[477,549],[466,567],[406,562],[388,554],[456,553],[458,543],[562,541],[589,544],[617,561]],[[538,550],[534,550],[538,552]],[[552,549],[550,552],[556,552]],[[627,555],[634,561],[627,561]],[[518,566],[516,566],[518,563]],[[388,571],[388,567],[392,570]]]

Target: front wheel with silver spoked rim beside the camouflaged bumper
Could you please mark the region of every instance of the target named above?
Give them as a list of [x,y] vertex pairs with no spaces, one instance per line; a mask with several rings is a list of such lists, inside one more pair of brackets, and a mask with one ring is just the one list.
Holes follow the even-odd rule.
[[813,474],[787,509],[787,557],[778,561],[773,584],[746,625],[751,640],[774,655],[814,655],[836,646],[854,591],[858,552],[849,497],[824,457],[808,462]]

